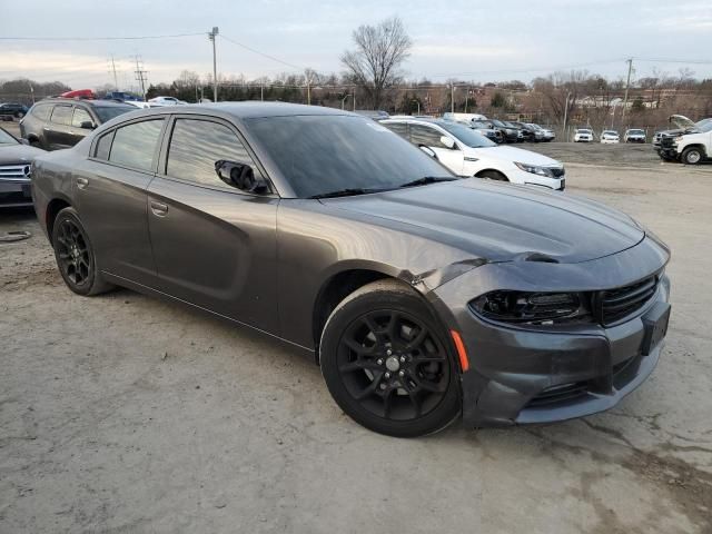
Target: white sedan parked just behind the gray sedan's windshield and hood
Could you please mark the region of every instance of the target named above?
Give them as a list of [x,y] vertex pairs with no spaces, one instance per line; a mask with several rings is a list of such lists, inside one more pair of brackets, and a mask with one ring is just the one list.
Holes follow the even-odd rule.
[[476,130],[439,119],[389,119],[380,122],[417,147],[431,150],[457,176],[490,178],[564,190],[564,166],[546,156],[500,147]]

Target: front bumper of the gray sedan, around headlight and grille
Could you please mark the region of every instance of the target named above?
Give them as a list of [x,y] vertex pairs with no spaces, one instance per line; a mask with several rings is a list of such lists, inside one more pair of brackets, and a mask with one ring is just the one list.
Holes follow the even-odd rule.
[[[468,303],[493,289],[602,290],[661,273],[665,249],[650,238],[606,258],[582,264],[487,264],[434,293],[461,333],[469,369],[462,376],[463,419],[468,426],[548,423],[615,406],[654,369],[664,332],[654,344],[652,325],[666,328],[670,283],[614,326],[594,323],[523,327],[484,319]],[[545,280],[545,281],[538,281]],[[448,312],[445,312],[447,309]],[[647,325],[647,326],[646,326]]]

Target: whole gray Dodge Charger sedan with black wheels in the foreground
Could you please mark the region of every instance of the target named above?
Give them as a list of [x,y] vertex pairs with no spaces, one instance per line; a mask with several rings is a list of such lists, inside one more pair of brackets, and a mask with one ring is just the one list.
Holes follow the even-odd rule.
[[32,195],[72,291],[123,286],[305,349],[393,436],[610,408],[668,328],[670,251],[630,217],[455,178],[334,109],[127,113],[39,157]]

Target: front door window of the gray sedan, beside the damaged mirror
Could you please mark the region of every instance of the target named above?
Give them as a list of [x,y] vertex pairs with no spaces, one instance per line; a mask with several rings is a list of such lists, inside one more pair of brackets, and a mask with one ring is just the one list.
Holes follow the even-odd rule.
[[166,166],[168,176],[235,190],[215,171],[215,162],[220,159],[248,164],[259,175],[245,146],[227,126],[209,120],[176,120]]

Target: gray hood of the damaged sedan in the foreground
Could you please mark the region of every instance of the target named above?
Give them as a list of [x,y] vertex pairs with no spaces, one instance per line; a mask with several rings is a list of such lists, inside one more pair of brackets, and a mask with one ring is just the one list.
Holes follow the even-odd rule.
[[645,237],[633,219],[600,204],[478,178],[323,202],[487,261],[581,263]]

